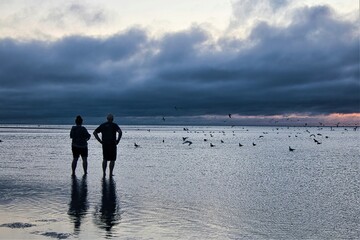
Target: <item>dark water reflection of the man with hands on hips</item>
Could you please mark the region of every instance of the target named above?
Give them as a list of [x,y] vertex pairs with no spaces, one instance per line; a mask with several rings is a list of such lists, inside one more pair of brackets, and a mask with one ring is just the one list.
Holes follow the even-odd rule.
[[101,205],[95,210],[96,224],[111,236],[112,227],[120,221],[119,202],[113,178],[102,179]]

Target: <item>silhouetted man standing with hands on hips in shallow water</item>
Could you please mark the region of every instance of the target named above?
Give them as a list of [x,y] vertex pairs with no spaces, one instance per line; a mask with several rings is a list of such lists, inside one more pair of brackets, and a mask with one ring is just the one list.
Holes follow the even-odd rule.
[[[114,116],[112,114],[109,114],[107,116],[107,122],[101,124],[94,131],[95,138],[102,144],[102,150],[103,150],[102,168],[103,168],[104,177],[106,175],[106,167],[108,161],[110,161],[110,177],[113,176],[113,170],[117,155],[116,153],[117,145],[119,144],[122,136],[122,131],[120,127],[113,121],[114,121]],[[99,133],[101,133],[101,138],[98,135]]]

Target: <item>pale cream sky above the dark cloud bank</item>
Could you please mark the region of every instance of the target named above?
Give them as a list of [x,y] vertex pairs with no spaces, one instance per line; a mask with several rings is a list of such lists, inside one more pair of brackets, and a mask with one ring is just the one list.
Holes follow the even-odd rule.
[[[295,7],[326,5],[343,16],[354,16],[354,0],[275,0]],[[214,34],[228,32],[236,18],[236,5],[267,5],[262,0],[1,0],[0,38],[56,39],[68,35],[108,36],[137,26],[157,35],[200,25]],[[274,18],[274,12],[259,7],[242,12],[241,20]],[[268,14],[268,15],[267,15]],[[281,15],[277,12],[277,15]],[[244,26],[242,26],[244,27]]]

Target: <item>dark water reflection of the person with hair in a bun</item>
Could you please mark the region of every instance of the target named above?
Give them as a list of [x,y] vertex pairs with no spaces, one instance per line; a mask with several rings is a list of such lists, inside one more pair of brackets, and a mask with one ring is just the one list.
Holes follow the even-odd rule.
[[71,221],[74,223],[74,230],[76,233],[80,231],[81,220],[86,215],[89,208],[86,181],[86,175],[84,175],[81,180],[72,176],[71,200],[69,203],[68,214],[71,217]]

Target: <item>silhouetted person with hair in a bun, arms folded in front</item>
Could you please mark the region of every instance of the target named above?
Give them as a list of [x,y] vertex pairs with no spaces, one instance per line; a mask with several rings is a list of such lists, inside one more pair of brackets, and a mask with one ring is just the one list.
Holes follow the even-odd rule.
[[91,135],[85,127],[82,126],[83,119],[81,116],[77,116],[75,119],[76,126],[73,126],[70,131],[70,138],[72,138],[71,149],[73,152],[73,161],[71,164],[72,175],[75,175],[77,161],[81,156],[83,160],[84,174],[87,174],[87,157],[88,157],[88,146]]

